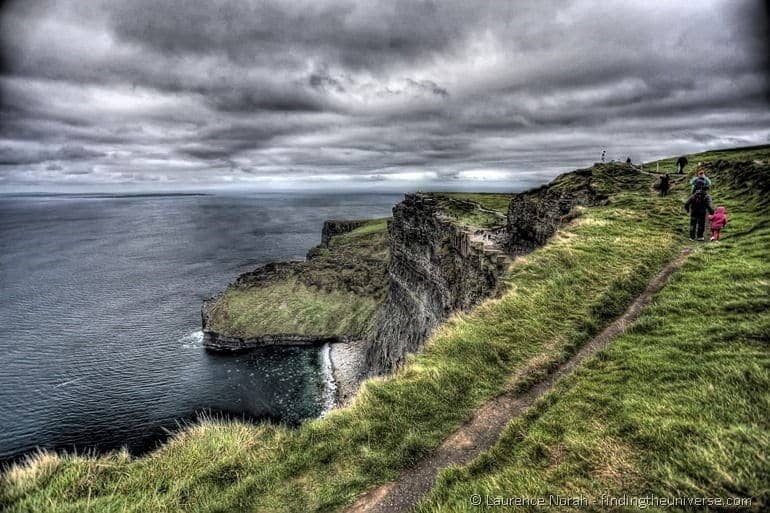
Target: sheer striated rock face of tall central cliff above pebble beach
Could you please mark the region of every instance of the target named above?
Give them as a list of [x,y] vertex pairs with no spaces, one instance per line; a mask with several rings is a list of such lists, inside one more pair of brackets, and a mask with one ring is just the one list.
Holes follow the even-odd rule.
[[393,208],[388,235],[390,284],[366,358],[372,374],[398,366],[452,312],[489,296],[507,262],[491,234],[459,228],[424,194]]

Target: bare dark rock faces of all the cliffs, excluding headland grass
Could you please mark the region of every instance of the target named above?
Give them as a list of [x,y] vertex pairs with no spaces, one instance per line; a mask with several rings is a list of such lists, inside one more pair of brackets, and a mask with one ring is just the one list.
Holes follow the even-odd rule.
[[[366,222],[327,221],[321,245],[308,253],[306,262],[270,264],[242,275],[234,285],[259,288],[293,276],[315,290],[344,289],[382,301],[362,345],[367,346],[368,373],[383,374],[399,366],[408,353],[418,351],[433,330],[452,313],[467,310],[492,295],[510,256],[545,244],[562,224],[574,217],[576,206],[605,203],[615,187],[612,183],[618,180],[646,187],[634,173],[627,171],[604,166],[596,168],[596,172],[585,169],[564,174],[548,185],[512,195],[505,218],[496,213],[502,209],[492,211],[476,201],[446,195],[407,194],[404,201],[393,208],[393,217],[387,224],[387,239],[383,225],[380,238],[366,244],[363,239],[348,241],[355,251],[342,251],[340,248],[344,246],[338,246],[339,241],[348,237],[344,234]],[[469,219],[472,222],[466,222]],[[339,238],[332,241],[333,237]],[[387,246],[390,260],[386,275],[384,248]],[[378,255],[379,250],[385,251],[385,256]],[[331,258],[332,255],[336,256]],[[374,263],[363,265],[368,260]],[[383,301],[386,287],[387,296]],[[208,309],[207,302],[202,313],[207,347],[211,349],[238,350],[265,344],[303,345],[351,339],[331,333],[327,336],[325,332],[312,337],[272,333],[251,339],[228,337],[210,328]]]

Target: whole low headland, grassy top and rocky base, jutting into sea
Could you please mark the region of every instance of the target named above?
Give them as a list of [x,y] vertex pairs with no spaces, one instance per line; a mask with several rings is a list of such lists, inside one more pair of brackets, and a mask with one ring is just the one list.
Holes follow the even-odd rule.
[[241,351],[365,339],[387,288],[384,219],[329,221],[302,262],[244,273],[204,301],[204,346]]

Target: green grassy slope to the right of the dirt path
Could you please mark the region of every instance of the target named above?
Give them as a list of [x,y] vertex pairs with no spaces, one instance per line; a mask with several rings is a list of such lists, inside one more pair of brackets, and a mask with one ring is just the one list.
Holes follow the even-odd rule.
[[727,237],[701,246],[631,330],[487,454],[445,471],[420,511],[477,511],[474,493],[770,505],[770,211],[751,190],[720,193],[727,177],[718,178],[716,200],[731,212]]

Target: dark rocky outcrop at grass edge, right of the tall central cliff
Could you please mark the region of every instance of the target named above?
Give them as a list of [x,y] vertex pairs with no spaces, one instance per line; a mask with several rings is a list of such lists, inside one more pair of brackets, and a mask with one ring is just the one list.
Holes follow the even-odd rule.
[[576,206],[606,202],[607,196],[594,189],[592,178],[592,171],[584,169],[515,195],[508,207],[508,251],[525,253],[542,246],[573,217]]

